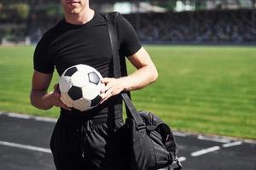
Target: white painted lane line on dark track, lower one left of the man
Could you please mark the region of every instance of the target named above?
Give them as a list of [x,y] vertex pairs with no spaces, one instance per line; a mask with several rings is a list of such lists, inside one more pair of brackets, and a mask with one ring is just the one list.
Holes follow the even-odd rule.
[[32,145],[15,144],[15,143],[6,142],[6,141],[1,141],[1,140],[0,140],[0,144],[6,145],[6,146],[15,147],[15,148],[26,149],[26,150],[35,150],[35,151],[40,151],[40,152],[49,153],[49,154],[51,153],[51,150],[49,150],[49,149],[40,148],[40,147],[32,146]]

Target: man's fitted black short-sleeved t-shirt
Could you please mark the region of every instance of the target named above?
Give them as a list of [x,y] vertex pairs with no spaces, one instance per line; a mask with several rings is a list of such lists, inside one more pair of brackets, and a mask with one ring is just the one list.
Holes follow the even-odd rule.
[[[119,56],[124,59],[125,56],[135,54],[142,44],[131,24],[122,15],[117,17],[116,26]],[[52,74],[56,69],[61,75],[70,66],[84,64],[96,68],[102,77],[113,77],[112,58],[107,22],[102,14],[96,12],[92,20],[84,25],[72,25],[61,20],[47,31],[35,49],[34,70]],[[90,111],[121,112],[121,102],[120,96],[115,96]],[[61,112],[68,111],[61,109]]]

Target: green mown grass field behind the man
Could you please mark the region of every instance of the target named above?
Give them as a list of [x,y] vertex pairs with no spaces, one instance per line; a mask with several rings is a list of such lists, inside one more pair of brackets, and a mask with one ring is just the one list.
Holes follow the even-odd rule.
[[[132,93],[138,110],[155,112],[177,130],[256,139],[256,48],[146,48],[159,79]],[[57,117],[56,108],[30,105],[33,50],[0,47],[0,111]]]

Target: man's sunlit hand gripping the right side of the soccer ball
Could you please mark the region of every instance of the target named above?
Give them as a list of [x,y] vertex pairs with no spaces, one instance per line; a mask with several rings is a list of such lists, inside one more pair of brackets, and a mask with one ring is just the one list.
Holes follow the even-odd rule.
[[102,83],[105,87],[102,88],[102,101],[101,104],[109,99],[111,96],[119,94],[125,89],[125,77],[122,78],[103,78]]

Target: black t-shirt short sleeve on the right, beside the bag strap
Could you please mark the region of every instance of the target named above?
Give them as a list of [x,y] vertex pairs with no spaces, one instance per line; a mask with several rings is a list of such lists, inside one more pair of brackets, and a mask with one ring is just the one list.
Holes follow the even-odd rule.
[[142,48],[142,43],[137,37],[137,33],[131,26],[130,22],[123,15],[119,15],[116,19],[116,26],[119,34],[120,49],[122,56],[131,56],[136,54]]

